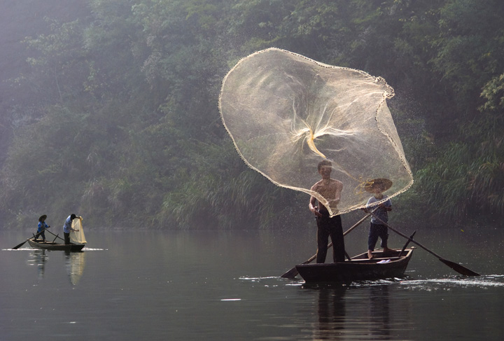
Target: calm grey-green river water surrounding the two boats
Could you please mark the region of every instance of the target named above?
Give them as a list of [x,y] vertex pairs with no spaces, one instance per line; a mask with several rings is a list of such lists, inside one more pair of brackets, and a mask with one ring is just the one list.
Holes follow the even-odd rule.
[[[504,340],[504,228],[417,229],[423,246],[481,277],[417,248],[404,278],[344,286],[280,277],[314,254],[314,226],[90,228],[80,253],[10,249],[31,232],[0,232],[2,341]],[[346,249],[366,241],[361,225]],[[404,242],[391,235],[389,246]]]

